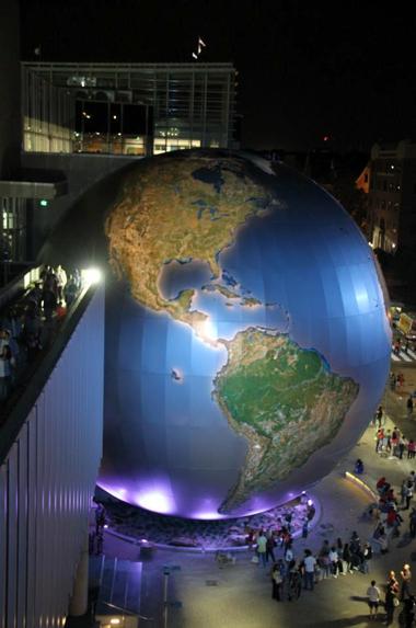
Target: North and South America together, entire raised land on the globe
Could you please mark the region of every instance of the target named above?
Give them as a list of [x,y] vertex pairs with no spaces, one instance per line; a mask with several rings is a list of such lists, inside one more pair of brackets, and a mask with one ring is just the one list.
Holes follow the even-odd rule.
[[[105,221],[111,265],[127,279],[136,302],[226,352],[226,363],[210,379],[211,398],[246,442],[246,455],[236,482],[217,505],[223,515],[273,489],[331,443],[359,392],[359,384],[333,370],[327,356],[290,338],[290,311],[265,302],[221,265],[251,220],[276,209],[290,212],[251,176],[244,160],[188,156],[143,164],[139,179],[128,175]],[[167,295],[166,271],[181,275],[195,264],[209,271],[209,279]],[[209,298],[240,312],[278,311],[284,327],[242,317],[240,328],[224,338],[204,306]],[[183,380],[181,369],[167,367],[171,380]]]

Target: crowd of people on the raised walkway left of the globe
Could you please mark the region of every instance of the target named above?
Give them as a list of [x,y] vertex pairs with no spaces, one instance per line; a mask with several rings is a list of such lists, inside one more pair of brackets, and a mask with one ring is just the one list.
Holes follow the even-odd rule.
[[56,322],[81,289],[81,274],[45,266],[39,281],[0,316],[0,401],[5,400],[25,367],[47,347]]

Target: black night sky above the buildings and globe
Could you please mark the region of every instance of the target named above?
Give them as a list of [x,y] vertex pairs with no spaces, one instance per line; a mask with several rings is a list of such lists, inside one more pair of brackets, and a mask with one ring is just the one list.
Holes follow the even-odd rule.
[[233,61],[243,144],[416,138],[416,10],[372,0],[22,0],[22,57]]

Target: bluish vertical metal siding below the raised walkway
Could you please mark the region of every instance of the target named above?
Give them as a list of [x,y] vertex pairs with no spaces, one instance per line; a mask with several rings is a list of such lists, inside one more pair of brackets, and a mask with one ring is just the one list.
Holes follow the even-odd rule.
[[0,628],[62,626],[102,456],[97,289],[0,467]]

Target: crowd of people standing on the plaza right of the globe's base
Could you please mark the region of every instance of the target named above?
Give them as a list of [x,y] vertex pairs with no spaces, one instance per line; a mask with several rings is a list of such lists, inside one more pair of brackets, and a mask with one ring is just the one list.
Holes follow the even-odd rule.
[[[413,459],[413,441],[406,441],[395,426],[388,430],[381,426],[383,410],[379,408],[375,422],[380,421],[377,437],[377,452],[386,450],[398,459]],[[379,434],[382,431],[383,434]],[[363,473],[361,459],[355,465],[356,473]],[[294,601],[303,591],[313,591],[314,586],[325,579],[337,579],[347,574],[371,571],[370,564],[373,555],[386,555],[391,548],[391,540],[401,536],[402,527],[406,526],[409,538],[416,538],[416,507],[412,507],[412,500],[416,489],[416,473],[411,471],[403,478],[397,491],[385,477],[380,477],[375,484],[378,501],[366,511],[374,523],[372,535],[361,543],[357,532],[353,532],[347,543],[337,538],[335,543],[324,540],[317,552],[310,549],[300,551],[296,556],[293,539],[287,530],[259,530],[255,538],[257,558],[262,567],[270,567],[271,597],[277,602]],[[406,514],[405,514],[406,513]],[[405,521],[406,519],[406,521]],[[407,528],[408,524],[408,528]],[[368,583],[367,601],[371,620],[383,618],[385,625],[391,625],[397,608],[402,626],[414,625],[416,601],[411,587],[412,570],[409,564],[403,564],[400,574],[390,571],[382,585],[374,580]],[[379,615],[383,607],[383,617]]]

